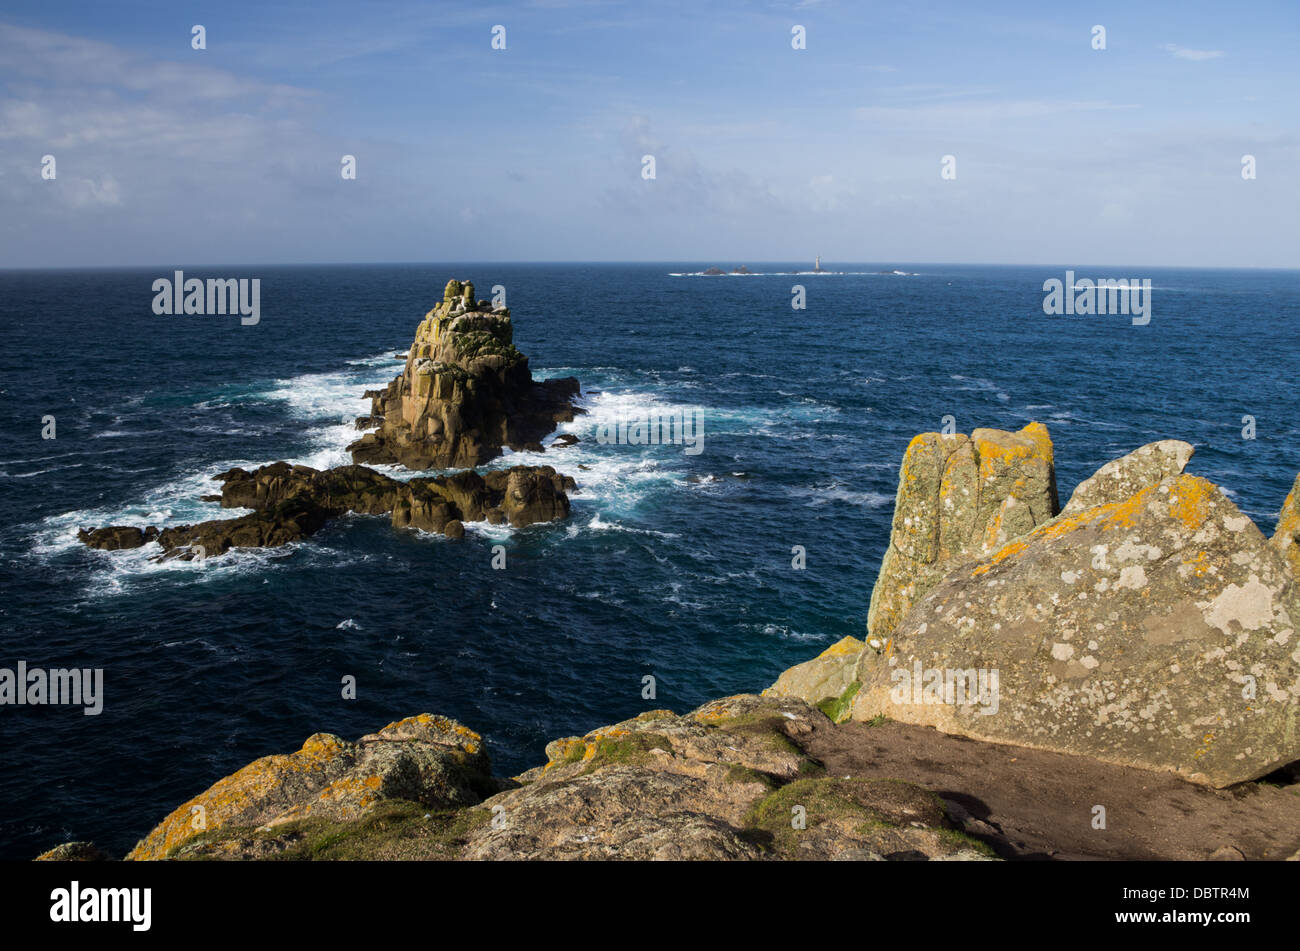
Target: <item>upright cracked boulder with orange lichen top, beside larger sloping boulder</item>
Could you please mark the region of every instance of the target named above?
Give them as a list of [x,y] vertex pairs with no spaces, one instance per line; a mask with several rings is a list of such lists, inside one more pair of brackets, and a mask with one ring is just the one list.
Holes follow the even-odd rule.
[[898,474],[868,633],[888,638],[948,572],[1031,531],[1057,509],[1052,438],[1041,424],[1018,433],[976,429],[970,437],[916,437]]

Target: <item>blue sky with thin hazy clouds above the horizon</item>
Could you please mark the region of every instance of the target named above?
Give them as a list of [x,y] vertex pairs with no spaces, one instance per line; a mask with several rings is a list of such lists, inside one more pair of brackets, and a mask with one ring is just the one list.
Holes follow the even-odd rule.
[[1297,55],[1300,0],[6,0],[0,268],[1297,268]]

